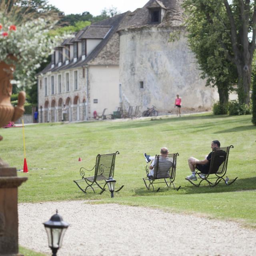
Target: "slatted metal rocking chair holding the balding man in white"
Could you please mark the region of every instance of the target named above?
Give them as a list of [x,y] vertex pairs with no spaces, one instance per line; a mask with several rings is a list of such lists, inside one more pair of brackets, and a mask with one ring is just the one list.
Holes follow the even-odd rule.
[[[167,188],[172,188],[173,186],[173,188],[176,190],[180,189],[180,186],[178,188],[175,188],[174,186],[178,155],[179,153],[168,154],[168,155],[156,155],[155,165],[154,165],[154,176],[151,178],[148,177],[150,169],[148,166],[146,166],[147,177],[142,179],[148,190],[150,189],[150,186],[152,186],[154,190],[154,185],[161,184],[161,183],[166,184]],[[157,191],[159,190],[160,188],[158,188]]]

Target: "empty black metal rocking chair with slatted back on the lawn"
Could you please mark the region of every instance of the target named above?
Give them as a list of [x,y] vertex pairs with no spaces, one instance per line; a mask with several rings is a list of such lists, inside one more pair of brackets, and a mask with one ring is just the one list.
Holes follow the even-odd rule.
[[[74,180],[78,188],[80,188],[80,190],[82,190],[84,193],[86,193],[87,188],[92,188],[93,192],[95,193],[94,187],[98,187],[101,189],[100,194],[103,193],[105,191],[106,180],[108,180],[110,177],[114,177],[115,160],[117,154],[119,154],[118,151],[113,154],[98,154],[96,157],[96,164],[91,170],[81,167],[80,175],[82,176],[82,179]],[[93,176],[86,175],[87,172],[91,172],[93,170]],[[123,186],[115,190],[115,192],[120,191],[122,188]]]

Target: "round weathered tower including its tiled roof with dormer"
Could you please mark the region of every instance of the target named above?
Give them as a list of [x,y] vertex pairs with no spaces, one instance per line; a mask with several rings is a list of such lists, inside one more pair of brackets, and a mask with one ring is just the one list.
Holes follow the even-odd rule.
[[[176,94],[188,109],[210,110],[218,94],[205,87],[182,28],[182,0],[150,0],[126,15],[120,35],[120,84],[124,108],[174,108]],[[180,39],[169,42],[180,30]]]

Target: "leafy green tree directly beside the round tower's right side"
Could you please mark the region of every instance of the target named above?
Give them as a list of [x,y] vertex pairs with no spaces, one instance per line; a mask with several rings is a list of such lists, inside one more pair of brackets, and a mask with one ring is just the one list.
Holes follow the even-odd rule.
[[190,7],[187,1],[184,8],[188,17],[186,20],[188,42],[202,71],[201,78],[207,79],[206,86],[218,88],[219,102],[224,114],[229,91],[233,90],[238,78],[236,66],[224,57],[224,49],[219,43],[222,31],[214,32],[207,6],[198,3],[196,8],[190,9]]

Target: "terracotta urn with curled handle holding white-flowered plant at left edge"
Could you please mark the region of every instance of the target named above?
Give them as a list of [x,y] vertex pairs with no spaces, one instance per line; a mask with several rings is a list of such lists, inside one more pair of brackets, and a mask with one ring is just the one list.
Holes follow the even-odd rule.
[[[9,59],[13,63],[15,62],[15,57],[10,56]],[[10,121],[15,122],[24,113],[25,92],[19,93],[18,105],[15,108],[10,101],[12,95],[11,80],[13,79],[14,68],[14,64],[7,64],[4,61],[0,62],[0,127],[5,126]],[[0,140],[2,140],[1,135]],[[0,168],[3,165],[6,166],[6,163],[0,159]]]

